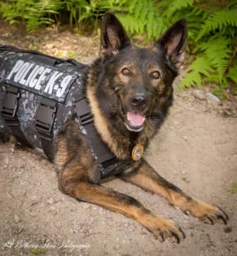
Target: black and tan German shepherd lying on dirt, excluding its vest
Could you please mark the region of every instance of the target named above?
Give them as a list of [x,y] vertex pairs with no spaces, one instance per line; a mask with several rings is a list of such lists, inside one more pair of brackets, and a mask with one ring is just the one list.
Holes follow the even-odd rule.
[[[97,132],[117,158],[130,159],[138,144],[146,149],[164,122],[173,100],[172,83],[186,53],[187,34],[186,20],[181,19],[152,47],[141,48],[131,44],[113,14],[104,15],[100,57],[88,67],[85,84]],[[100,184],[90,147],[74,120],[65,124],[56,139],[54,162],[63,193],[134,219],[161,242],[169,238],[179,243],[185,238],[173,221],[152,214],[133,197]],[[190,197],[164,180],[143,158],[118,176],[164,197],[200,221],[228,221],[218,206]]]

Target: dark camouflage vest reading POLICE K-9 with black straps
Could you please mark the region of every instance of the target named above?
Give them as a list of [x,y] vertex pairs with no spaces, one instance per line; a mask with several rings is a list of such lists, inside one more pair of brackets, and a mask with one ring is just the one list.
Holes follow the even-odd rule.
[[0,126],[21,144],[54,159],[54,141],[74,118],[90,145],[101,177],[121,173],[133,161],[120,161],[97,133],[85,96],[85,64],[36,51],[0,46]]

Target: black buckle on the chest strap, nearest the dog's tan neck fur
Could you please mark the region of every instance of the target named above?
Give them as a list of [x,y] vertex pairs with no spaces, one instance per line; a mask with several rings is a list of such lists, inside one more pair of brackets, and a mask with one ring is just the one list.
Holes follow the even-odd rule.
[[78,115],[78,119],[80,120],[80,124],[86,125],[93,122],[93,116],[90,112],[90,107],[86,101],[86,98],[80,98],[77,102],[75,102],[76,112]]

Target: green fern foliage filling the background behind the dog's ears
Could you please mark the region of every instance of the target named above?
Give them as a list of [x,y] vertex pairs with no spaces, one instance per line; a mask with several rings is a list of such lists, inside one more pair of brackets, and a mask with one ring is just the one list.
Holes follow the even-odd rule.
[[9,23],[25,23],[31,32],[52,23],[80,33],[99,30],[105,11],[119,17],[131,37],[156,40],[180,18],[188,21],[187,74],[180,88],[214,82],[214,93],[229,88],[237,95],[236,0],[5,0],[0,15]]

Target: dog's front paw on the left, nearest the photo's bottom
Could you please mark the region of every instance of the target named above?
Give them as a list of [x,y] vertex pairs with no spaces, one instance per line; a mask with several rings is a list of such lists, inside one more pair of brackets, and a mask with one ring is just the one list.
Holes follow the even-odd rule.
[[142,221],[145,226],[153,235],[159,239],[160,242],[169,239],[175,243],[180,243],[181,239],[186,238],[182,229],[169,219],[164,219],[160,216],[147,215]]

